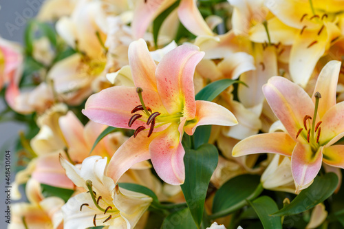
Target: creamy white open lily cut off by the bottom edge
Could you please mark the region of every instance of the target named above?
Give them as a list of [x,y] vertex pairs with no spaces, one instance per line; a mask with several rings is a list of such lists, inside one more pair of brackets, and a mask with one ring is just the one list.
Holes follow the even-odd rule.
[[62,206],[64,228],[133,228],[151,204],[151,197],[120,189],[105,175],[107,158],[87,157],[81,166],[70,164],[62,156],[60,162],[69,179],[80,188],[80,193]]

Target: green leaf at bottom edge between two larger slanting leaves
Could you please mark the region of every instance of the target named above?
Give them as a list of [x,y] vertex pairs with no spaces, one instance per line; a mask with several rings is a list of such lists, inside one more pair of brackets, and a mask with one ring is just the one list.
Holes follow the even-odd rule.
[[270,216],[270,214],[279,209],[273,199],[263,196],[255,199],[252,202],[248,202],[257,213],[264,228],[282,228],[281,217]]

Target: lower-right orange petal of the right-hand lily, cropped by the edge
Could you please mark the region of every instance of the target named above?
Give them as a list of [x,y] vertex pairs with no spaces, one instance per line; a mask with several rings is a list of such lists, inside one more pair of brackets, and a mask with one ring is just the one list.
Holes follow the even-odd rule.
[[337,144],[330,147],[325,147],[323,151],[323,162],[344,168],[344,145]]

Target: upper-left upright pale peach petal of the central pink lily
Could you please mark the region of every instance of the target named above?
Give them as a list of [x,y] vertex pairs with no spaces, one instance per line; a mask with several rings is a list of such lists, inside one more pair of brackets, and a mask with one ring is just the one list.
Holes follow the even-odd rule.
[[149,53],[147,43],[143,39],[133,41],[129,45],[128,55],[135,87],[156,91],[156,65]]

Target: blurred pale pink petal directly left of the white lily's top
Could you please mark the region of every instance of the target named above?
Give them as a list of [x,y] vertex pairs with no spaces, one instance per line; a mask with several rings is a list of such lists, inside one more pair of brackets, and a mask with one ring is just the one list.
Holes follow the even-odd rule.
[[58,159],[58,153],[41,155],[36,161],[32,178],[50,186],[74,188],[73,182],[65,175],[65,170]]

